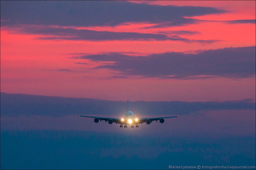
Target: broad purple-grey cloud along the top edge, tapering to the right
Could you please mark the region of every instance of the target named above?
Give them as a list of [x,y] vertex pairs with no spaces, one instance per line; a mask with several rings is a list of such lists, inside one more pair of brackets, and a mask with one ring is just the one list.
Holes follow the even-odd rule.
[[115,26],[127,22],[194,23],[184,17],[220,14],[211,7],[160,6],[125,1],[1,1],[1,26],[16,24]]

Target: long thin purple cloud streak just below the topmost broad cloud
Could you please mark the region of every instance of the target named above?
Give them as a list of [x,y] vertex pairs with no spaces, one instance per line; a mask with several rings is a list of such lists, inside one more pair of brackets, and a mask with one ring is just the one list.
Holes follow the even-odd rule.
[[[21,34],[36,34],[43,37],[42,40],[89,40],[89,41],[111,41],[111,40],[132,40],[132,41],[183,41],[186,43],[206,43],[211,44],[220,40],[191,40],[176,35],[149,34],[137,32],[109,32],[94,31],[88,29],[73,29],[48,26],[20,26],[18,29],[12,29],[13,32]],[[76,53],[74,53],[76,54]],[[79,53],[78,53],[79,54]]]

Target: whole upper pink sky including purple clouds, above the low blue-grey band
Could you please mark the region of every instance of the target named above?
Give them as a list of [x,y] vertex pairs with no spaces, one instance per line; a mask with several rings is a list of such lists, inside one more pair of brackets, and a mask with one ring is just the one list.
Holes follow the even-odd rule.
[[255,1],[1,2],[1,92],[255,101]]

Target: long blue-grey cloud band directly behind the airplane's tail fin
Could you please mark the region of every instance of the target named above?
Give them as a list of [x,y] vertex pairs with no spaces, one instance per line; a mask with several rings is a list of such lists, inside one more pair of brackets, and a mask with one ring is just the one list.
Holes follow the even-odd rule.
[[[120,114],[127,108],[127,102],[65,98],[53,96],[37,96],[25,94],[1,93],[1,116],[41,115],[61,117],[64,115],[78,115],[90,113],[109,116]],[[251,101],[226,102],[130,102],[136,113],[150,115],[164,113],[170,115],[188,115],[197,111],[209,110],[255,110],[255,103]],[[161,111],[161,112],[159,112]]]

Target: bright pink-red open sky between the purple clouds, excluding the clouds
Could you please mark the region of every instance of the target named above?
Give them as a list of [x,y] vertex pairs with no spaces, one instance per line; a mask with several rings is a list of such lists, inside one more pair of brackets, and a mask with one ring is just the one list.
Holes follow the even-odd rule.
[[[209,44],[171,40],[44,40],[38,39],[45,37],[40,33],[20,31],[20,28],[26,25],[1,25],[1,92],[116,101],[130,99],[205,102],[253,99],[255,102],[255,74],[243,78],[215,77],[197,80],[136,75],[129,75],[128,78],[107,78],[118,72],[106,68],[92,69],[102,63],[72,58],[76,55],[71,53],[119,52],[132,53],[131,55],[138,53],[143,56],[166,52],[195,53],[197,50],[248,47],[256,44],[255,23],[220,22],[255,20],[255,1],[156,1],[150,4],[214,7],[230,12],[187,17],[211,22],[201,21],[183,26],[151,29],[145,27],[155,24],[128,22],[117,26],[55,26],[143,34],[185,30],[198,33],[178,36],[189,40],[219,40]],[[71,71],[63,71],[66,69]]]

